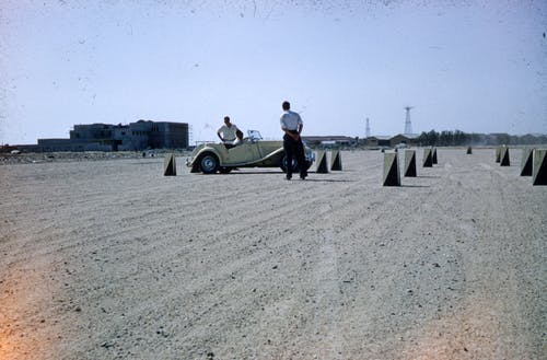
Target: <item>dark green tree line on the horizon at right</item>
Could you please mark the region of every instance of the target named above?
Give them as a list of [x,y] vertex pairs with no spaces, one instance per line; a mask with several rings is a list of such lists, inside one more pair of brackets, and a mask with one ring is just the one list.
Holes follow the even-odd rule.
[[516,146],[547,143],[547,135],[509,135],[509,133],[467,133],[461,130],[423,131],[417,139],[421,146],[461,147],[461,146]]

